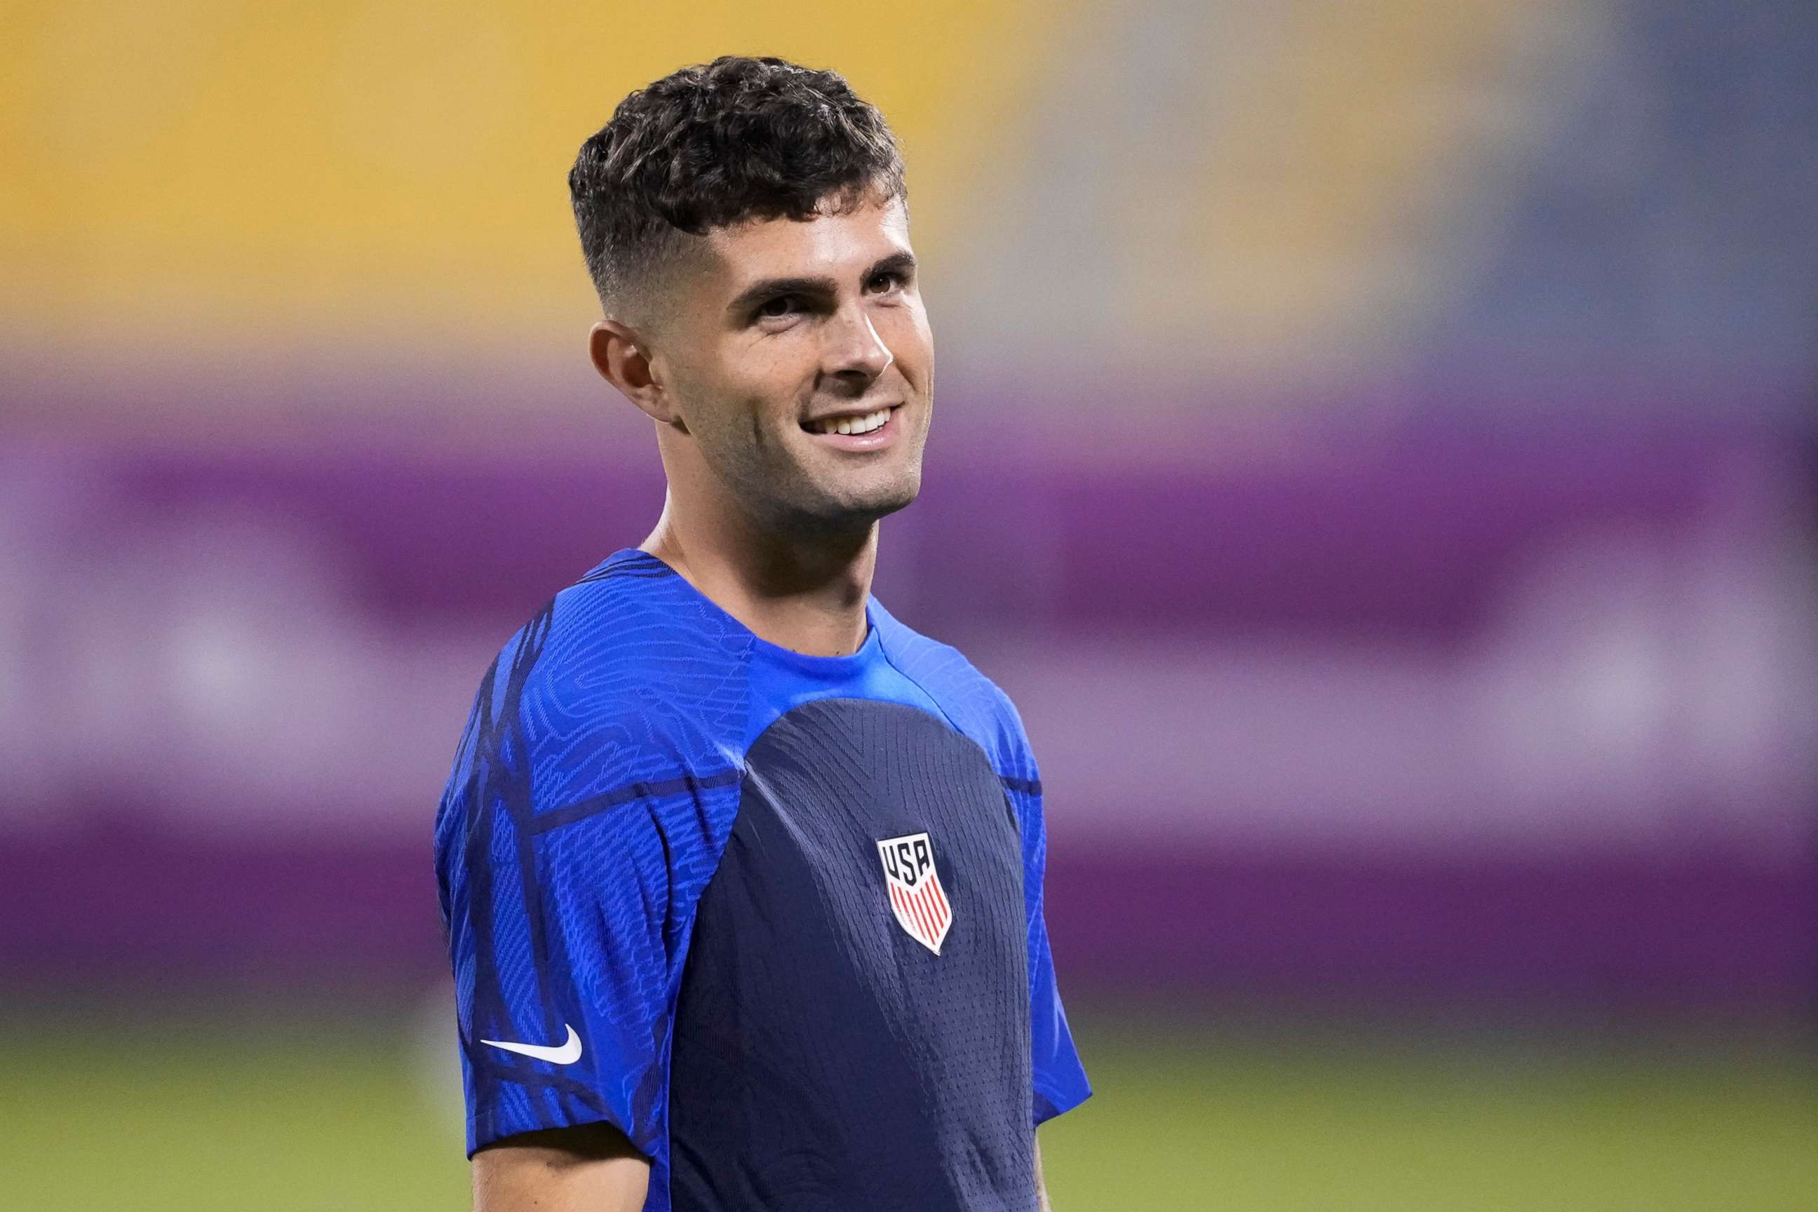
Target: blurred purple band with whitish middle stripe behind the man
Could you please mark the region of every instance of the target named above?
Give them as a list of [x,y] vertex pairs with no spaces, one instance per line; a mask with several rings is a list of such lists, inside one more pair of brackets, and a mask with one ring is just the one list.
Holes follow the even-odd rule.
[[[885,527],[880,598],[1027,718],[1071,988],[1811,1007],[1796,443],[1176,440],[1109,465],[942,442]],[[473,685],[642,538],[654,460],[25,443],[4,482],[0,979],[431,983],[427,823]]]

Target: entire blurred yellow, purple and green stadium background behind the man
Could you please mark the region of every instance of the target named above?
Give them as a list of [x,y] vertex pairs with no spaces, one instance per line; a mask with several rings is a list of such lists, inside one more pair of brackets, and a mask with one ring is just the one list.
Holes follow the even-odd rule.
[[0,1203],[465,1199],[429,821],[636,543],[564,174],[896,125],[878,594],[1020,701],[1100,1208],[1818,1207],[1807,0],[0,9]]

